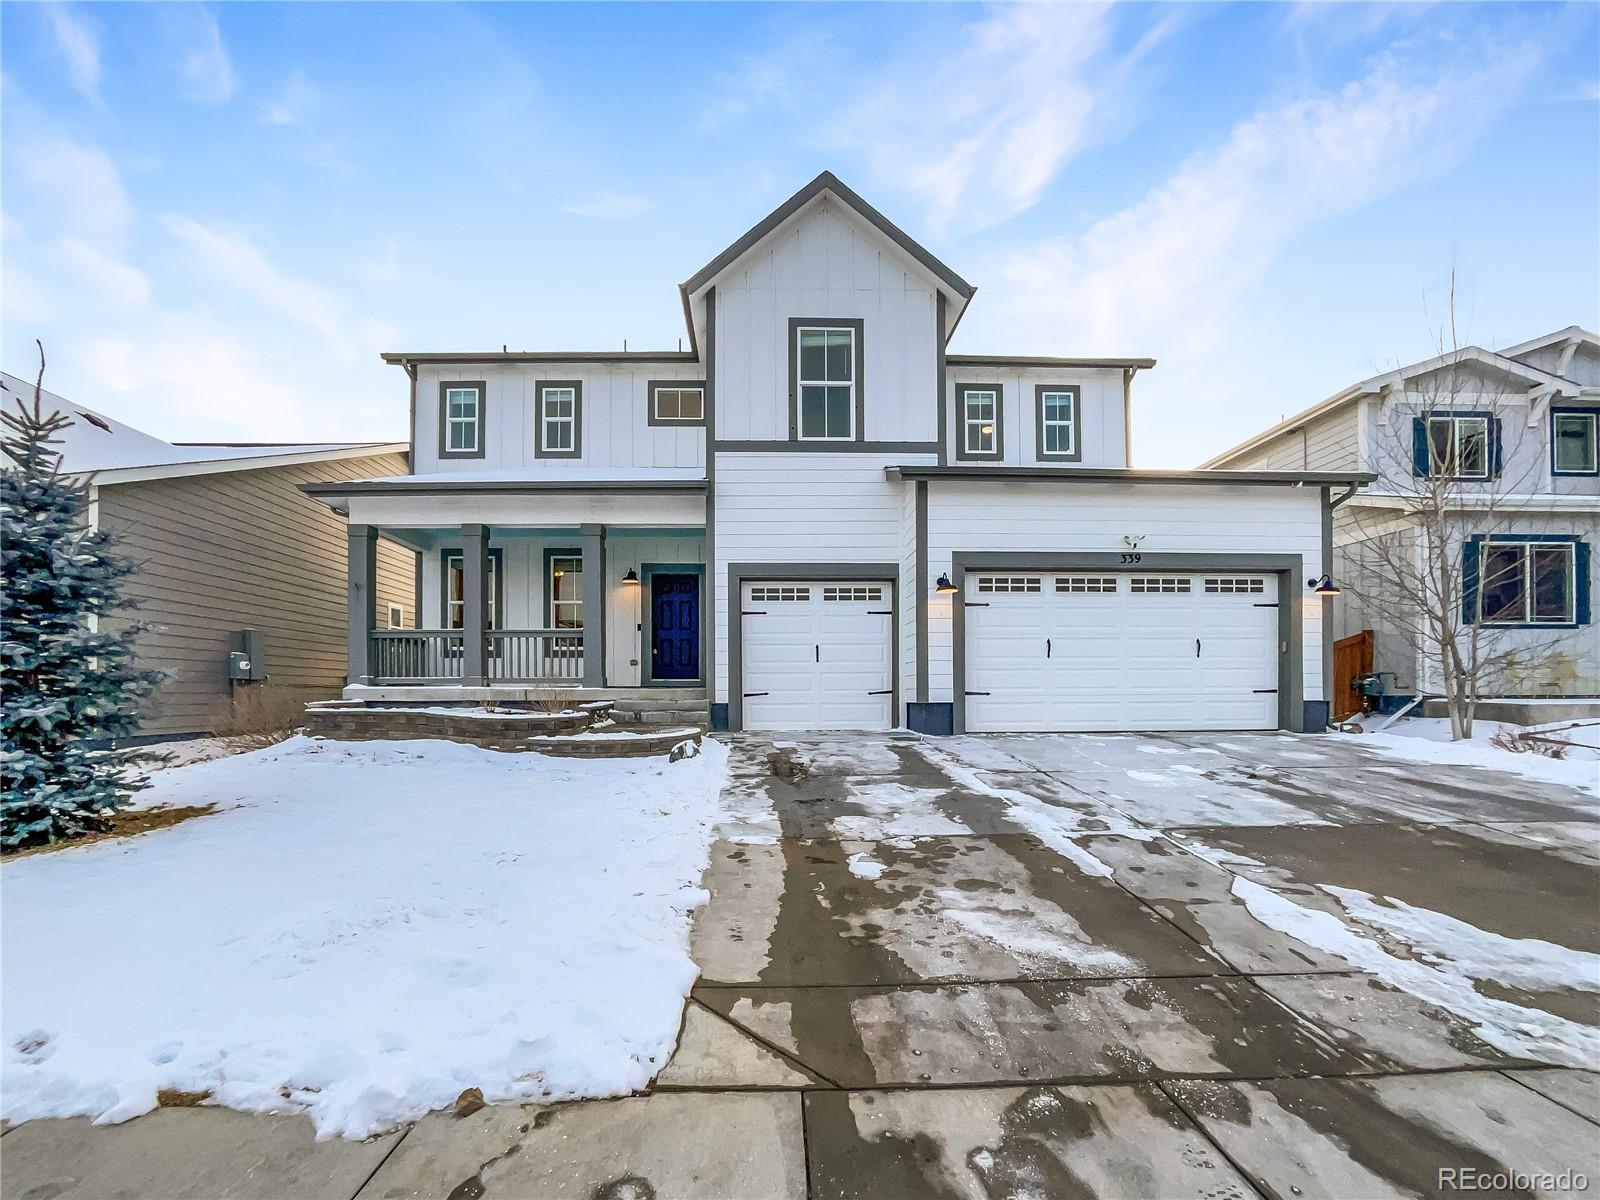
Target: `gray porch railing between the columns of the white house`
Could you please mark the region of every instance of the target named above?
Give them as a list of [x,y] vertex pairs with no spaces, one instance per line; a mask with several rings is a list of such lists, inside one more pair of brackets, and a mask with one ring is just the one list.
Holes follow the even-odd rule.
[[[581,683],[584,630],[493,629],[483,637],[490,683]],[[379,629],[371,635],[373,683],[459,685],[466,658],[459,629]]]

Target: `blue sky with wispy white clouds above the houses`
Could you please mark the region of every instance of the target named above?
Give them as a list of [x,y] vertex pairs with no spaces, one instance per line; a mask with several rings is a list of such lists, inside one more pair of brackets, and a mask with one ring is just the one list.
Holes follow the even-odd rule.
[[1600,6],[18,5],[6,370],[174,440],[405,437],[381,349],[675,347],[819,170],[1152,355],[1192,466],[1437,347],[1600,325]]

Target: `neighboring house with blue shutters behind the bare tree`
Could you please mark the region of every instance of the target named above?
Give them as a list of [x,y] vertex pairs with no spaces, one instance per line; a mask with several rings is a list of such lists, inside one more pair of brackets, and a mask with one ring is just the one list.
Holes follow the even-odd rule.
[[1600,338],[1573,325],[1365,379],[1205,467],[1379,475],[1338,509],[1333,573],[1357,594],[1336,602],[1334,627],[1339,637],[1373,629],[1376,667],[1392,672],[1389,686],[1402,693],[1440,690],[1437,653],[1363,602],[1370,541],[1386,518],[1405,518],[1405,496],[1446,475],[1459,518],[1443,554],[1464,581],[1461,616],[1493,632],[1506,654],[1490,686],[1509,696],[1597,696],[1597,419]]

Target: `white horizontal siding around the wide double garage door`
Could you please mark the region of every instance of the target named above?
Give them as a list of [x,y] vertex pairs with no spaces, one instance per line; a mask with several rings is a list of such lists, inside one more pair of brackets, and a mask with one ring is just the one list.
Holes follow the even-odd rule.
[[[928,574],[949,571],[957,554],[1126,550],[1138,536],[1147,554],[1299,554],[1302,571],[1283,603],[1302,605],[1304,698],[1322,699],[1322,602],[1304,579],[1322,574],[1318,488],[1136,483],[928,485]],[[720,549],[720,538],[718,538]],[[1138,570],[1138,568],[1125,568]],[[952,602],[928,600],[928,699],[954,702]]]

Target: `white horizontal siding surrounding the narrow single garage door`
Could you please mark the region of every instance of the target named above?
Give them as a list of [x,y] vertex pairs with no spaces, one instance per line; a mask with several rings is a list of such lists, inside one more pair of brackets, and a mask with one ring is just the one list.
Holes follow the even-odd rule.
[[[720,419],[720,413],[718,413]],[[931,454],[899,454],[894,462],[931,464]],[[717,677],[712,699],[728,699],[730,563],[904,563],[915,536],[909,483],[891,483],[877,454],[718,454],[715,611]],[[912,579],[902,570],[901,694],[915,686],[915,608]]]

